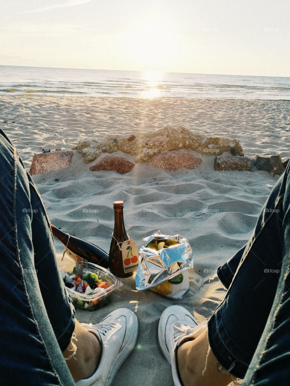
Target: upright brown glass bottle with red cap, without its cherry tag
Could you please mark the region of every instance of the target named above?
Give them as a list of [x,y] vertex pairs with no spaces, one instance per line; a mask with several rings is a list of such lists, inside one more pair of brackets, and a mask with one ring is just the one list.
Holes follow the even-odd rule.
[[118,276],[118,278],[128,278],[128,276],[133,275],[133,272],[125,273],[122,252],[119,249],[120,244],[118,244],[118,242],[122,243],[128,240],[128,235],[124,225],[123,201],[114,201],[113,205],[115,212],[115,225],[109,251],[110,271],[115,276]]

